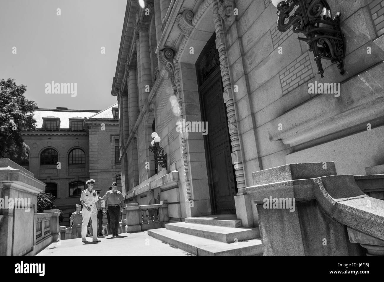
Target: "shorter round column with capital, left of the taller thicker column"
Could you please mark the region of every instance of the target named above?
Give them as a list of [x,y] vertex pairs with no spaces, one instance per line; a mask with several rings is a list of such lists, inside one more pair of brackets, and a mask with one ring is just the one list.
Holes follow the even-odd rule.
[[139,101],[137,99],[136,66],[128,66],[128,103],[129,103],[129,130],[132,130],[139,116]]

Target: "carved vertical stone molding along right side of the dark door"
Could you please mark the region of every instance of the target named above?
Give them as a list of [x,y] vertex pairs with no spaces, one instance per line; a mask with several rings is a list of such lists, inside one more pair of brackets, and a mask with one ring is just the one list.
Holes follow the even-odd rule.
[[[218,2],[220,2],[220,0]],[[222,7],[223,5],[229,5],[228,3],[225,3],[226,0],[221,2],[222,2]],[[229,2],[232,2],[232,1],[229,1]],[[224,90],[223,100],[225,102],[225,105],[227,106],[228,129],[229,129],[231,145],[232,145],[232,162],[234,165],[236,165],[235,175],[236,175],[237,189],[238,189],[237,194],[240,195],[240,194],[245,194],[245,190],[244,190],[245,177],[244,177],[244,168],[243,168],[242,158],[239,157],[241,155],[241,148],[240,148],[240,140],[239,140],[239,134],[238,134],[238,128],[237,128],[235,104],[233,101],[233,92],[232,92],[232,86],[231,86],[229,69],[228,69],[227,51],[225,50],[225,38],[224,38],[223,26],[221,23],[221,15],[219,14],[218,3],[214,2],[213,7],[214,7],[214,15],[213,15],[214,24],[215,24],[215,31],[216,31],[216,48],[218,50],[219,57],[220,57],[220,71],[223,79],[223,90]],[[233,14],[233,8],[232,8],[232,14]]]

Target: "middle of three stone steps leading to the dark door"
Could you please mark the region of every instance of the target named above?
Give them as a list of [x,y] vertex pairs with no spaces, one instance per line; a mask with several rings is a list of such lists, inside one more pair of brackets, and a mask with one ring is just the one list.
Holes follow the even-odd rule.
[[166,229],[219,242],[233,243],[260,237],[259,228],[230,228],[196,223],[167,223]]

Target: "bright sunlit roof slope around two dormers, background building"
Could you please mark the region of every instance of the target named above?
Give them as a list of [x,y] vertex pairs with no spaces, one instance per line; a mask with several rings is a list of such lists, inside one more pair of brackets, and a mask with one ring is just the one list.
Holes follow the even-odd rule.
[[43,126],[43,117],[44,117],[44,118],[59,118],[60,129],[65,129],[70,127],[69,119],[73,119],[74,118],[73,116],[78,116],[81,119],[84,119],[84,117],[88,118],[97,112],[99,112],[99,110],[34,109],[33,117],[36,120],[36,128],[41,128]]

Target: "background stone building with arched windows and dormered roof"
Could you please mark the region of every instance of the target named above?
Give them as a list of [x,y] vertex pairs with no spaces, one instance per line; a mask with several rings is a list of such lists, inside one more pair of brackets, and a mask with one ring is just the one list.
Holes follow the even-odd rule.
[[120,182],[119,159],[115,158],[118,106],[102,111],[36,107],[34,118],[36,130],[22,134],[30,147],[29,160],[22,165],[46,184],[46,192],[56,196],[55,205],[63,211],[60,225],[68,225],[88,179],[96,180],[95,189],[101,193],[113,181]]

